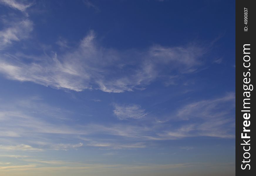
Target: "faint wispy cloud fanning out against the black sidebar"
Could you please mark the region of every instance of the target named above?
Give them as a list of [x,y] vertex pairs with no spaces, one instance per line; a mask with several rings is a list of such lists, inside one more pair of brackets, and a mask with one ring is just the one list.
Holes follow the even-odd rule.
[[234,93],[188,104],[176,115],[183,125],[158,135],[167,139],[195,136],[234,138],[235,117],[230,114],[234,109]]

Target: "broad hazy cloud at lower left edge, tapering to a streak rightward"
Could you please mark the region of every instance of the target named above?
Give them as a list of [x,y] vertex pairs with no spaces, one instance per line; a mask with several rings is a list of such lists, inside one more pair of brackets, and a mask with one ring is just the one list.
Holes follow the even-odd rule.
[[[19,99],[17,101],[1,102],[0,108],[0,131],[2,136],[30,137],[41,134],[62,134],[62,135],[87,135],[87,134],[110,134],[126,137],[136,137],[137,134],[148,131],[149,128],[100,124],[74,123],[60,124],[66,121],[69,111],[56,107],[47,106],[38,97]],[[57,123],[55,123],[57,122]]]

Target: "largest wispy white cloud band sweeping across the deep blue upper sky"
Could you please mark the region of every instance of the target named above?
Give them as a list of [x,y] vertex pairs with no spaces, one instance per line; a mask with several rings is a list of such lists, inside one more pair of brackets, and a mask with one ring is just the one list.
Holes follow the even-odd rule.
[[[120,93],[143,90],[160,75],[175,70],[180,74],[195,70],[192,68],[201,65],[199,57],[202,54],[202,49],[195,46],[154,46],[144,51],[121,52],[101,47],[91,31],[77,49],[51,56],[29,55],[27,58],[34,59],[28,63],[20,62],[20,54],[2,55],[0,72],[8,79],[31,81],[57,89],[100,89]],[[17,57],[19,62],[14,59]]]

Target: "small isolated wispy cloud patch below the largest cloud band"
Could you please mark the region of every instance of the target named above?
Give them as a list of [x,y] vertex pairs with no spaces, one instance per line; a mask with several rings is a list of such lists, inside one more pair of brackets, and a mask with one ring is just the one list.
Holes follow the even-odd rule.
[[113,112],[119,120],[141,119],[148,114],[145,109],[142,109],[141,106],[137,104],[115,104],[114,108]]

